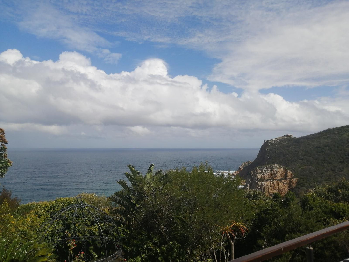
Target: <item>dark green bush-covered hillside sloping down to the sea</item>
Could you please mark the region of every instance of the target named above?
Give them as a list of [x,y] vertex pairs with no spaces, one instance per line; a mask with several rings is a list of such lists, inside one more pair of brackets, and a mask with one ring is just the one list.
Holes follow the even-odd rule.
[[302,196],[316,184],[349,179],[349,125],[304,137],[280,137],[263,143],[257,158],[239,175],[246,177],[255,167],[282,165],[298,178],[294,191]]

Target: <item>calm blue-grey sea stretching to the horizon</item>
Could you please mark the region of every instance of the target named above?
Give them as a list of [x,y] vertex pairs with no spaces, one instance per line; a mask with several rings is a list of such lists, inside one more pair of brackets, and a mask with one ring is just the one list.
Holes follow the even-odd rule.
[[22,204],[76,196],[81,192],[112,195],[126,179],[127,165],[145,173],[187,167],[208,161],[214,170],[236,170],[257,157],[259,149],[9,149],[13,161],[2,185]]

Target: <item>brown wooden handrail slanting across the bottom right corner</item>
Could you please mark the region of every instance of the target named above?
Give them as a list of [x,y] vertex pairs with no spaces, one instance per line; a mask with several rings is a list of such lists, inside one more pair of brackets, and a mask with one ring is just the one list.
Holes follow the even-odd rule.
[[300,236],[299,238],[291,239],[289,241],[280,243],[278,245],[268,247],[266,249],[259,250],[257,252],[248,254],[246,256],[238,257],[237,259],[230,260],[228,262],[260,262],[270,259],[274,256],[281,255],[290,250],[296,249],[297,247],[302,247],[317,241],[327,236],[333,235],[335,233],[349,229],[349,221],[330,226],[313,233]]

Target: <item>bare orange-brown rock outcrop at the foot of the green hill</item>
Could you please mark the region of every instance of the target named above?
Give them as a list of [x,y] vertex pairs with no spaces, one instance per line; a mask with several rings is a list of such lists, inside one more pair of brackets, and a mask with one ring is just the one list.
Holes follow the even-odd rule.
[[258,190],[269,196],[275,192],[285,195],[296,183],[297,179],[293,178],[290,170],[275,164],[254,168],[247,175],[244,188]]

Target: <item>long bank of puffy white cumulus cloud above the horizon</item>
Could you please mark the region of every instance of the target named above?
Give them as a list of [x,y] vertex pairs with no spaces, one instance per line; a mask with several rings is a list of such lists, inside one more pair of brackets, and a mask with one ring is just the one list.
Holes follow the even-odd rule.
[[255,90],[225,94],[196,77],[170,77],[161,59],[108,75],[77,52],[38,62],[9,49],[0,54],[0,83],[2,124],[61,136],[105,138],[110,128],[119,137],[131,131],[154,138],[174,129],[191,137],[224,130],[315,132],[349,122],[348,96],[289,102]]

